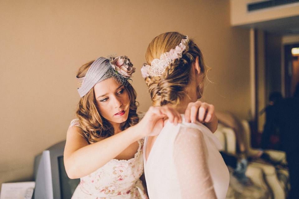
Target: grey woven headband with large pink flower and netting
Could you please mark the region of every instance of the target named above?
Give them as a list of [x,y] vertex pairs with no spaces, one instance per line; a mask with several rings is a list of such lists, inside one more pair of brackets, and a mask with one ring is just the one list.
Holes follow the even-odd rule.
[[111,77],[113,77],[117,83],[126,86],[128,84],[127,79],[130,79],[134,72],[135,68],[130,59],[126,56],[99,57],[91,64],[84,77],[77,77],[78,93],[80,97],[83,97],[98,82]]

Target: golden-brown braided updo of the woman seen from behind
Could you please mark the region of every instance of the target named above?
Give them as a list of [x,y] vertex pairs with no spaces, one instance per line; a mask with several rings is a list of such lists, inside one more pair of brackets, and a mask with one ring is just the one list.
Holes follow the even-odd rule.
[[[145,53],[147,63],[150,64],[152,60],[159,59],[161,54],[174,49],[182,39],[185,39],[185,36],[178,32],[166,32],[155,37]],[[182,58],[173,60],[160,77],[145,78],[154,106],[180,104],[186,96],[185,87],[191,81],[190,70],[197,57],[201,74],[203,77],[206,76],[207,67],[204,64],[201,50],[192,39],[188,45],[189,50],[183,51]]]

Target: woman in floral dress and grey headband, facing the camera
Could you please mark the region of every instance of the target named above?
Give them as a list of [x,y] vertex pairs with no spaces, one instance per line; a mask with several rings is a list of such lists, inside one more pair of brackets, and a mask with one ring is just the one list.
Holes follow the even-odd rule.
[[126,56],[100,57],[78,71],[81,98],[64,149],[69,178],[80,178],[73,199],[147,198],[140,180],[143,137],[159,133],[162,118],[177,124],[181,116],[168,106],[151,107],[138,123],[136,93],[127,81],[133,72]]

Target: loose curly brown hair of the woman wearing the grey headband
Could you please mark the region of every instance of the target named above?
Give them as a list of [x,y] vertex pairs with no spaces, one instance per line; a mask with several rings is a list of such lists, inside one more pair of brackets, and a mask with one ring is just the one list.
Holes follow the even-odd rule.
[[[77,78],[84,77],[88,68],[94,61],[95,60],[81,66],[78,70]],[[139,118],[136,113],[137,107],[139,106],[139,103],[136,101],[136,91],[130,82],[127,82],[125,89],[129,94],[130,110],[128,119],[121,123],[120,129],[122,131],[139,122]],[[76,116],[79,119],[81,135],[88,141],[88,144],[101,141],[114,135],[112,125],[104,117],[102,117],[98,111],[93,88],[86,95],[80,98],[76,110]]]

